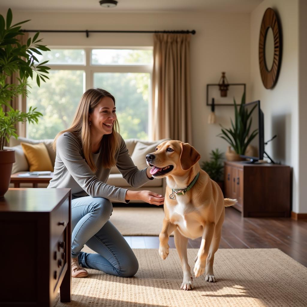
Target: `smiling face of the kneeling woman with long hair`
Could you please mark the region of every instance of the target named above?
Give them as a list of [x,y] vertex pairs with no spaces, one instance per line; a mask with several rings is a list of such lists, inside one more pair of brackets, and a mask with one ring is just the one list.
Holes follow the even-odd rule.
[[110,97],[103,97],[92,114],[89,115],[92,133],[103,136],[112,133],[112,127],[116,120],[115,105]]

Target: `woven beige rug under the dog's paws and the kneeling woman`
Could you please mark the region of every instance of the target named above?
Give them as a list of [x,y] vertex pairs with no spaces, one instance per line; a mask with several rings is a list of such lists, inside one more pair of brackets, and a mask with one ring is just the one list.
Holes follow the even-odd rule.
[[[197,249],[188,249],[194,267]],[[162,260],[156,249],[134,249],[139,270],[132,278],[88,270],[72,278],[72,302],[55,306],[295,306],[307,305],[307,268],[278,249],[220,249],[216,252],[216,283],[193,278],[195,288],[180,289],[182,270],[175,249]]]

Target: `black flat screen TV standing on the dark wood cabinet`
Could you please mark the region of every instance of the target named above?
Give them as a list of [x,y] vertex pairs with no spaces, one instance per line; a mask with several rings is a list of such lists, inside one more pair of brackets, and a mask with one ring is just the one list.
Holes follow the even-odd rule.
[[[253,101],[250,103],[246,103],[243,105],[244,109],[246,109],[248,112],[250,112],[254,107],[254,110],[251,113],[250,119],[251,119],[251,128],[250,128],[250,134],[254,130],[258,130],[257,135],[253,140],[250,142],[250,145],[253,146],[253,153],[248,156],[246,155],[246,152],[244,155],[240,155],[240,157],[243,158],[249,158],[250,160],[247,161],[247,163],[254,163],[258,160],[263,159],[264,154],[264,122],[263,122],[263,112],[260,109],[260,100]],[[249,119],[249,120],[250,120]],[[248,120],[248,124],[249,124]],[[248,136],[247,136],[248,137]]]

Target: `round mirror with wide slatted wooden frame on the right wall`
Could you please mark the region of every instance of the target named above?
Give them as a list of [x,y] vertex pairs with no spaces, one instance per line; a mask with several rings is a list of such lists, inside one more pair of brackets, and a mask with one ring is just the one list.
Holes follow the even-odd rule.
[[282,35],[277,16],[271,8],[266,9],[259,37],[259,67],[265,88],[277,82],[282,58]]

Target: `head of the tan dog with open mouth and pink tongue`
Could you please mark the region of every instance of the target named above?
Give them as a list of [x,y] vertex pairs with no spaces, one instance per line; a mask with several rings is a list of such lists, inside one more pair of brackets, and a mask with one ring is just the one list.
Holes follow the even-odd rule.
[[153,177],[165,177],[170,174],[182,175],[200,159],[200,154],[188,143],[181,141],[164,141],[156,151],[146,155],[146,163],[151,166]]

